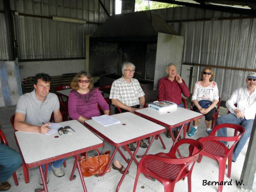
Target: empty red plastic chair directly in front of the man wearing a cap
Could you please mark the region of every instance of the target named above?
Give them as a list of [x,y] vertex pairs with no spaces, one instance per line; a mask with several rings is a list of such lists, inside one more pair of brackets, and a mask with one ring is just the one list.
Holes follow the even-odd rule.
[[[217,137],[215,133],[221,128],[232,128],[234,130],[234,136],[232,137]],[[245,129],[240,125],[223,123],[217,125],[209,134],[208,137],[198,138],[197,141],[201,142],[204,145],[203,151],[200,153],[198,158],[198,163],[201,162],[202,156],[207,156],[212,158],[215,161],[219,162],[219,182],[224,182],[224,174],[226,168],[226,161],[229,158],[228,166],[228,178],[231,176],[231,167],[232,167],[232,155],[235,144],[240,140],[241,136],[244,134]],[[239,133],[239,134],[238,134]],[[229,148],[225,144],[222,144],[219,141],[229,141],[234,142]],[[219,185],[218,192],[222,192],[223,185]]]

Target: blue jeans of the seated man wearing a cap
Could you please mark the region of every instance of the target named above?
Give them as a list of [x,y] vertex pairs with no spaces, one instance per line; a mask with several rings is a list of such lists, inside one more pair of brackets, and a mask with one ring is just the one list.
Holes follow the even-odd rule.
[[[246,144],[248,138],[251,136],[252,128],[253,128],[253,122],[254,120],[246,120],[237,118],[233,113],[229,113],[227,115],[223,115],[217,119],[217,125],[222,123],[232,123],[236,125],[241,125],[244,127],[245,132],[238,141],[238,143],[234,147],[232,160],[236,161],[238,155],[242,151],[244,144]],[[222,128],[218,130],[217,135],[219,137],[226,137],[227,136],[227,128]],[[223,144],[227,144],[227,142],[222,142]]]

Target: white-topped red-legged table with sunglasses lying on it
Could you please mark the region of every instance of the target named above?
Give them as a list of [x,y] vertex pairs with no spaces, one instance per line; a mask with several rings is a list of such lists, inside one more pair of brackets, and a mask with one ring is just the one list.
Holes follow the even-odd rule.
[[[61,134],[58,132],[51,135],[35,132],[15,132],[15,139],[23,157],[25,167],[39,166],[43,180],[43,186],[47,189],[47,167],[52,161],[74,156],[74,166],[70,176],[73,180],[75,168],[78,169],[84,191],[86,192],[85,181],[78,163],[78,155],[96,149],[104,145],[103,141],[93,132],[85,128],[77,120],[69,120],[58,123],[61,126],[70,126],[75,132],[69,129],[72,134]],[[45,173],[42,165],[47,164]]]

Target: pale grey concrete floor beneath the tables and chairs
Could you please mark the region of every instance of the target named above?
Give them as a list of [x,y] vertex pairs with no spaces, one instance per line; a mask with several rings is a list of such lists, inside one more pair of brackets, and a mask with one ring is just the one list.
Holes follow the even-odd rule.
[[[2,131],[7,137],[9,145],[15,149],[17,149],[17,145],[14,140],[13,136],[13,129],[10,123],[10,118],[15,112],[16,106],[11,107],[4,107],[0,108],[0,122],[2,124]],[[219,115],[223,115],[227,113],[226,108],[220,108]],[[172,141],[168,139],[165,134],[161,134],[162,139],[167,147],[166,150],[163,149],[159,140],[155,140],[152,144],[148,154],[156,154],[159,152],[168,152],[171,148]],[[197,139],[198,137],[205,137],[207,136],[207,132],[205,130],[204,120],[202,120],[199,124],[199,130],[195,133],[195,136],[190,137],[192,139]],[[188,136],[187,136],[188,137]],[[110,149],[109,144],[105,144],[105,149]],[[238,192],[240,189],[237,187],[235,180],[240,179],[240,175],[242,172],[243,164],[244,164],[244,157],[246,154],[248,142],[244,146],[243,151],[241,152],[240,156],[237,159],[237,162],[232,164],[232,175],[231,178],[227,178],[227,169],[225,174],[225,180],[231,181],[232,185],[230,186],[223,186],[223,192]],[[139,154],[143,154],[145,149],[140,148],[138,151]],[[124,152],[125,156],[128,156],[127,152]],[[73,168],[73,157],[66,159],[67,167],[64,168],[65,176],[62,178],[57,178],[51,172],[49,174],[49,184],[48,189],[50,192],[82,192],[83,187],[81,184],[81,180],[79,178],[78,172],[75,172],[77,178],[73,181],[69,180],[69,176],[71,174],[71,170]],[[126,163],[124,161],[121,162],[124,166]],[[134,186],[134,179],[136,175],[136,165],[133,163],[129,169],[130,173],[125,177],[120,192],[132,192]],[[33,192],[35,188],[39,188],[38,179],[40,177],[39,169],[38,168],[31,168],[29,169],[30,174],[30,183],[24,182],[24,175],[22,167],[19,168],[17,171],[17,176],[19,180],[19,185],[15,186],[13,178],[11,177],[8,182],[12,185],[11,189],[8,192]],[[203,157],[202,162],[200,164],[196,163],[192,173],[192,191],[193,192],[217,192],[218,186],[210,185],[210,186],[203,186],[203,180],[207,181],[218,181],[219,169],[218,163],[210,158]],[[121,174],[111,169],[109,173],[107,173],[103,177],[89,177],[84,178],[86,188],[88,192],[115,192],[116,186],[118,181],[121,178]],[[146,179],[142,174],[139,177],[139,181],[137,184],[136,192],[163,192],[164,188],[161,183],[158,181],[152,181]],[[187,179],[184,181],[181,180],[175,185],[175,192],[186,192],[187,190]],[[254,192],[256,192],[256,182],[254,182]]]

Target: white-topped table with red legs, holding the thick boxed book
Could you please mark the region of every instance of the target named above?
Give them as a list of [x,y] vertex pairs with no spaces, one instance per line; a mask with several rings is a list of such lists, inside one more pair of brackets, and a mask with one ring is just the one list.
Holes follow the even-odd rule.
[[[177,142],[182,130],[184,130],[183,138],[186,138],[186,129],[184,125],[193,120],[197,120],[203,117],[201,113],[186,109],[186,108],[172,108],[170,110],[159,112],[158,110],[152,108],[142,108],[135,110],[135,114],[140,117],[151,120],[159,125],[167,127],[171,133],[171,138],[173,140],[172,146]],[[172,134],[172,129],[182,126],[176,139]],[[171,146],[171,147],[172,147]]]

